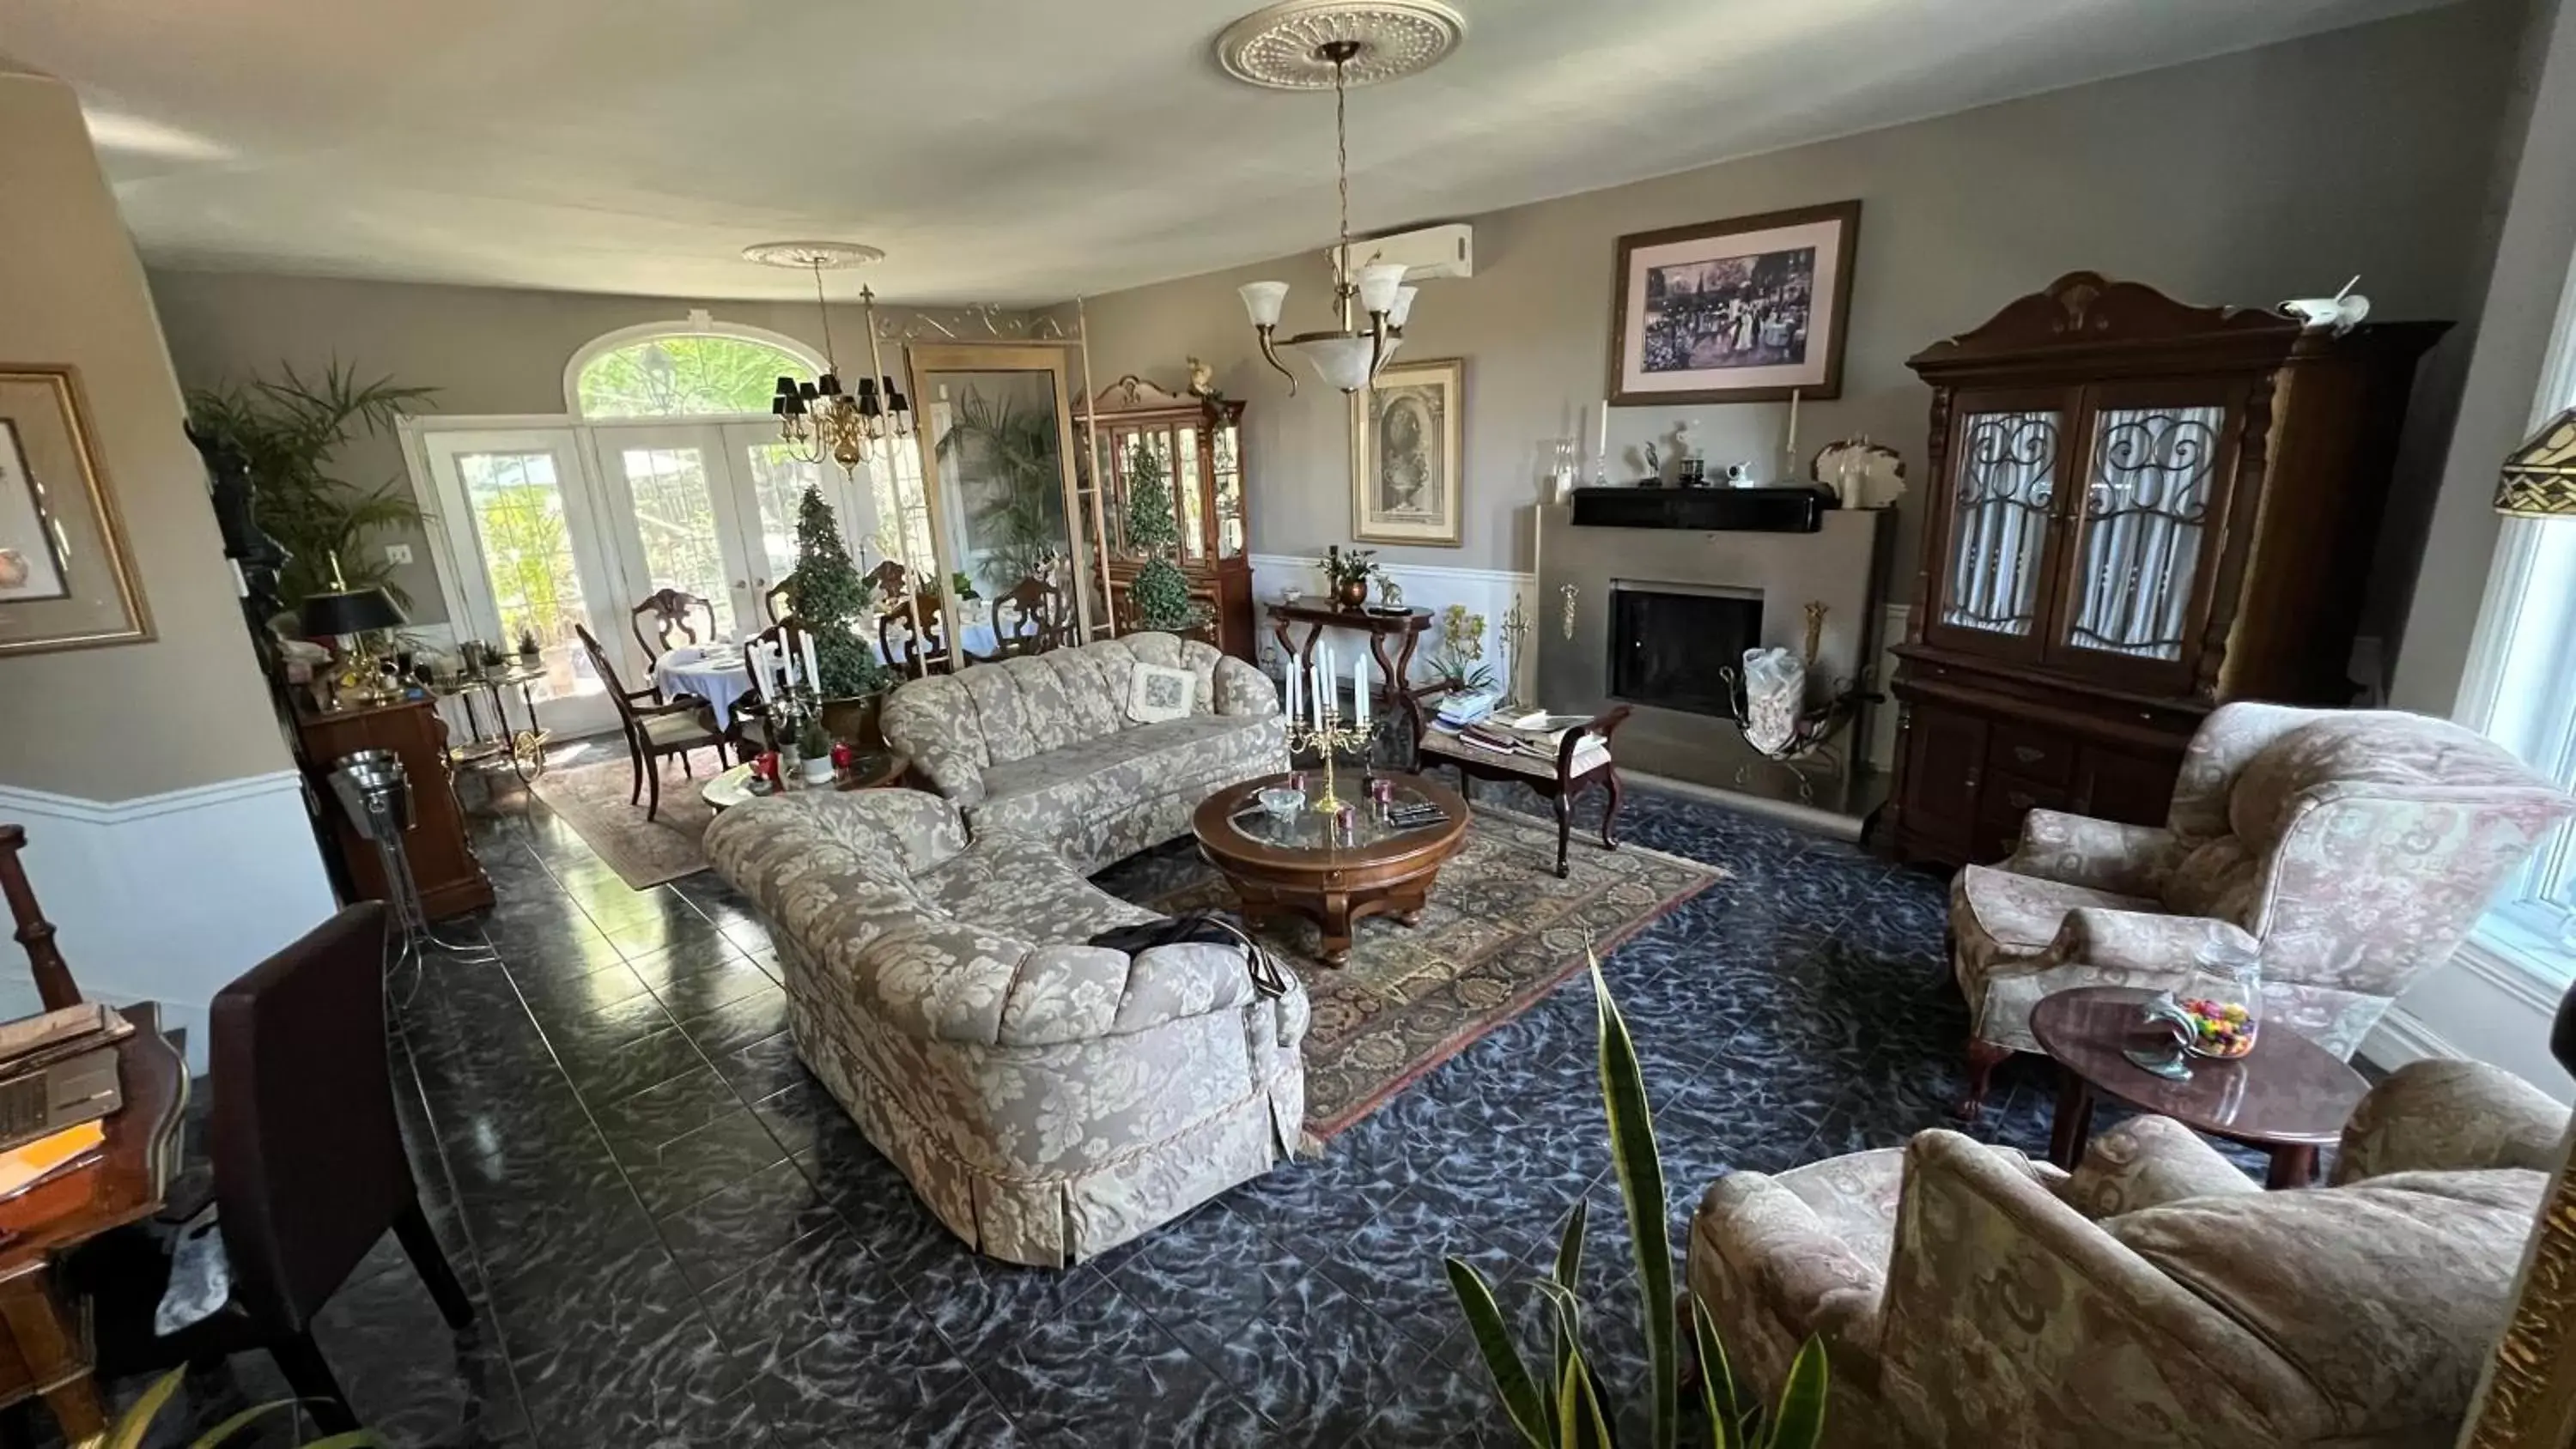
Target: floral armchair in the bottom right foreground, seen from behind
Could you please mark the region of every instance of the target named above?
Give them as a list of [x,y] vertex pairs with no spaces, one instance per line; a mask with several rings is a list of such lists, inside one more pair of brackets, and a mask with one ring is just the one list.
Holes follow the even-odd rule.
[[2336,1186],[2295,1192],[2166,1117],[2071,1176],[1922,1132],[1721,1179],[1690,1287],[1762,1395],[1824,1338],[1837,1446],[2447,1446],[2566,1120],[2496,1068],[2414,1063],[2352,1117]]

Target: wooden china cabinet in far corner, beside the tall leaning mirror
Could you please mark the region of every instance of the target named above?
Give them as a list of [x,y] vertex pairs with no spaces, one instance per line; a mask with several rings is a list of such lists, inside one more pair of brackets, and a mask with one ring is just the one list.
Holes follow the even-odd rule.
[[[1136,373],[1118,378],[1077,409],[1074,422],[1092,417],[1100,448],[1108,453],[1108,551],[1110,584],[1118,597],[1118,628],[1126,631],[1128,584],[1144,558],[1126,538],[1128,468],[1139,448],[1162,458],[1172,484],[1172,522],[1180,525],[1180,571],[1190,597],[1216,613],[1213,643],[1236,659],[1252,659],[1252,535],[1244,515],[1244,404],[1170,394]],[[1084,468],[1090,450],[1084,448]],[[1084,486],[1084,497],[1092,497]]]

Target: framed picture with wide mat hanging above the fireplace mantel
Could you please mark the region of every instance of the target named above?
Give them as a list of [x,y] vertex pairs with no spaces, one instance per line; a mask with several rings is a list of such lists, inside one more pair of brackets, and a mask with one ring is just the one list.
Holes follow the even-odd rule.
[[1610,401],[1842,396],[1860,203],[1618,239]]

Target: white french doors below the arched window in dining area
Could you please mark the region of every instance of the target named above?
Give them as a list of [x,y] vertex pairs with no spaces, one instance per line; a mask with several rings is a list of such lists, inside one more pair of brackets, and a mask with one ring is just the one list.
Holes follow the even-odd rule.
[[765,597],[796,569],[809,486],[822,484],[845,543],[876,530],[866,486],[799,461],[773,422],[433,430],[422,443],[456,561],[459,636],[502,646],[536,636],[546,659],[536,703],[559,734],[616,726],[574,623],[639,690],[649,679],[634,610],[647,595],[696,595],[719,638],[742,638],[768,628]]

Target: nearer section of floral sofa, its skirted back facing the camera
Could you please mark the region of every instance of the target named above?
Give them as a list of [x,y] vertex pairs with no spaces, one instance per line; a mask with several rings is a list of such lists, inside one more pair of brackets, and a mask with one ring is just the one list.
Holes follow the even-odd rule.
[[1064,1266],[1285,1161],[1306,993],[920,790],[750,800],[706,831],[770,919],[796,1055],[979,1253]]

